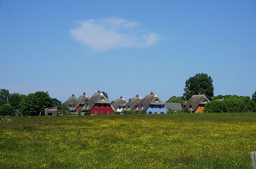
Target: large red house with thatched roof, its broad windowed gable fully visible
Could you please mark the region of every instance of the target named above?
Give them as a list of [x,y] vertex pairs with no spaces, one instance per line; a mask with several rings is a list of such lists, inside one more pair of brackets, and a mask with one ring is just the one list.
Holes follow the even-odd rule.
[[114,114],[115,109],[111,102],[100,91],[83,103],[82,112],[90,112],[92,115]]

